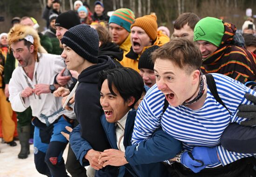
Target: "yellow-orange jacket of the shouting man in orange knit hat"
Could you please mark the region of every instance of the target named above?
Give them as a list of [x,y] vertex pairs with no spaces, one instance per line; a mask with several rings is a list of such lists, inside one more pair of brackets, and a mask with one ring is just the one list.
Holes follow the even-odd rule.
[[[165,43],[169,42],[170,39],[167,35],[163,34],[162,31],[157,32],[157,37],[153,45],[151,46],[162,46]],[[125,40],[126,42],[126,40]],[[130,42],[131,43],[131,42]],[[151,46],[145,46],[141,53],[143,53],[147,48]],[[120,46],[121,48],[121,46]],[[130,50],[128,52],[124,52],[123,59],[121,60],[121,65],[124,67],[130,67],[137,72],[140,70],[138,69],[138,62],[141,54],[137,54],[133,51],[132,47],[130,47]]]

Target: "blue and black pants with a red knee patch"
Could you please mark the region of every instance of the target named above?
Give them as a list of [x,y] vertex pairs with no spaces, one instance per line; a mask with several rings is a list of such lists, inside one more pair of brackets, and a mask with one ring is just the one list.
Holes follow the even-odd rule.
[[67,146],[67,139],[61,131],[67,132],[65,126],[72,125],[63,116],[49,126],[40,122],[38,118],[32,120],[34,124],[34,163],[36,170],[48,177],[67,177],[62,158]]

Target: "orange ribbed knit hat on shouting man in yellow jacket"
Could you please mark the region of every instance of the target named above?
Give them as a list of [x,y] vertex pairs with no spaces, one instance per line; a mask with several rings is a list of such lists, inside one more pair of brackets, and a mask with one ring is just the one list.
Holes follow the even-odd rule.
[[134,20],[133,26],[141,27],[149,36],[150,39],[155,40],[157,35],[157,23],[155,15],[144,15]]

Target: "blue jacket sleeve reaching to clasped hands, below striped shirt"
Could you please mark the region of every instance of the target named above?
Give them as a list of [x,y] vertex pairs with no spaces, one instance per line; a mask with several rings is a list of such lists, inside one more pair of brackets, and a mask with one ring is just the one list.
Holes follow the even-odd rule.
[[125,157],[131,165],[151,164],[169,160],[181,150],[182,142],[160,128],[148,140],[128,146]]

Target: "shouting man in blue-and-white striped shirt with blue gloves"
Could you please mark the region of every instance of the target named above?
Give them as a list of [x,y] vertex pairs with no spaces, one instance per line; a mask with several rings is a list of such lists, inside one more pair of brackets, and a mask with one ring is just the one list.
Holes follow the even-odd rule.
[[[188,39],[171,39],[152,54],[152,59],[156,85],[150,88],[139,106],[132,143],[139,144],[150,138],[162,126],[170,136],[182,141],[185,152],[172,159],[182,163],[175,163],[180,176],[193,176],[194,172],[224,176],[251,174],[252,167],[248,167],[247,158],[243,157],[252,154],[224,149],[221,136],[230,122],[239,124],[246,120],[236,116],[237,107],[252,105],[244,94],[256,95],[256,92],[215,73],[212,75],[217,92],[226,108],[216,101],[200,71],[202,55]],[[165,100],[169,105],[163,111]]]

